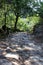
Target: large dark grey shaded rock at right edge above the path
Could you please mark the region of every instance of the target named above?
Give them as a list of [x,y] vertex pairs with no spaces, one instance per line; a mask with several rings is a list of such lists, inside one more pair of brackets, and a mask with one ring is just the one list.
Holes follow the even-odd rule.
[[43,37],[43,25],[35,25],[33,28],[33,34],[36,34],[39,37]]

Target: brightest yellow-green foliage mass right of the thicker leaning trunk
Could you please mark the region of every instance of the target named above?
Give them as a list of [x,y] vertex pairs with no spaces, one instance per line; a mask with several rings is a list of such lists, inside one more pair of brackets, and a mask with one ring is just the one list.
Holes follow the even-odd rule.
[[39,17],[31,16],[27,18],[19,18],[17,28],[23,31],[33,32],[33,27],[39,22]]

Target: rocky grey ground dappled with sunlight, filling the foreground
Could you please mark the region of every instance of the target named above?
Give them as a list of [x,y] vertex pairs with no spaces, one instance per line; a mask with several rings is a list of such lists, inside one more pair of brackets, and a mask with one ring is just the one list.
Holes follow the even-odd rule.
[[26,32],[0,39],[0,65],[43,65],[42,41]]

